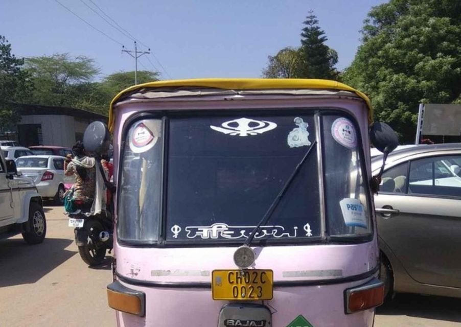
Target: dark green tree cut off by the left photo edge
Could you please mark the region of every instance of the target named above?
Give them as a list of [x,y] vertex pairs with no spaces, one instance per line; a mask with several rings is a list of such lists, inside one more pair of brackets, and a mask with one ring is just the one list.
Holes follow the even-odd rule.
[[4,129],[20,121],[20,114],[12,109],[12,103],[21,102],[32,89],[22,65],[24,59],[12,55],[11,44],[0,35],[0,127]]

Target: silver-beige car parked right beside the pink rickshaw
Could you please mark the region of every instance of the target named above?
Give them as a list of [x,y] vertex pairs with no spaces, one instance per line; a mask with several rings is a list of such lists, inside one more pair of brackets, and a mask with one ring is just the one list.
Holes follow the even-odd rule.
[[[376,174],[382,158],[372,160]],[[389,154],[375,196],[386,292],[461,297],[461,144]]]

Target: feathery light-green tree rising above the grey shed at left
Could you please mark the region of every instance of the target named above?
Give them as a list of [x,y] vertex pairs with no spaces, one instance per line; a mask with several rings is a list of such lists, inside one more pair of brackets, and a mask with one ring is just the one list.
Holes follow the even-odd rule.
[[51,106],[74,106],[85,95],[72,90],[99,74],[93,59],[67,53],[29,58],[26,66],[35,85],[31,102]]

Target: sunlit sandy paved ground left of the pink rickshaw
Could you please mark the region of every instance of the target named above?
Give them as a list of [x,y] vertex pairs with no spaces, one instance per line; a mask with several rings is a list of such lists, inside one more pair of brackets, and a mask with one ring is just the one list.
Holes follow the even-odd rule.
[[62,207],[45,207],[47,238],[0,241],[0,326],[113,327],[106,286],[110,262],[90,269],[80,259]]

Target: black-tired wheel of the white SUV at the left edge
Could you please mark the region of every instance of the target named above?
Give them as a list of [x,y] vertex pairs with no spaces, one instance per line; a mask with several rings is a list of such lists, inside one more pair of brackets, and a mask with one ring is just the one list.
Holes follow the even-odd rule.
[[29,220],[22,226],[22,238],[29,244],[43,242],[47,235],[47,220],[43,208],[36,202],[29,205]]

